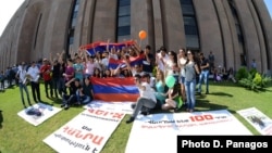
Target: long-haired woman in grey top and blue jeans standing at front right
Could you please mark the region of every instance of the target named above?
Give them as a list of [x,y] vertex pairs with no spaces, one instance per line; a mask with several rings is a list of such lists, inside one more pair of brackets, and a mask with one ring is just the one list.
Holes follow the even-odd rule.
[[185,71],[185,91],[187,100],[187,112],[194,112],[196,105],[196,77],[199,74],[199,68],[191,51],[187,52],[187,62],[184,66]]

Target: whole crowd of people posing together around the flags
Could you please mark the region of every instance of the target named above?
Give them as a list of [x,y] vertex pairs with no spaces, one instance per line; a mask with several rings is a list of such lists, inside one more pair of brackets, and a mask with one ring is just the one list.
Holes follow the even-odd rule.
[[[108,41],[109,42],[109,41]],[[131,63],[131,59],[141,56],[139,63]],[[110,59],[122,60],[116,68],[109,65]],[[40,80],[45,85],[47,98],[61,98],[62,107],[67,110],[74,104],[86,104],[94,99],[91,77],[134,77],[140,97],[134,105],[133,122],[139,112],[148,113],[152,109],[175,110],[186,105],[187,112],[194,112],[196,91],[201,93],[201,84],[206,84],[206,93],[209,93],[210,62],[203,53],[196,54],[190,50],[180,49],[178,52],[166,51],[161,47],[152,53],[151,47],[141,49],[137,43],[120,48],[109,48],[89,54],[86,49],[78,52],[50,54],[44,59],[41,65],[33,62],[26,66],[18,65],[18,79],[22,103],[26,107],[26,100],[32,105],[27,85],[30,85],[33,100],[42,102],[40,97]],[[175,84],[168,86],[166,78],[174,77]],[[198,85],[198,86],[197,86]],[[198,87],[196,89],[196,87]],[[146,111],[145,111],[146,110]]]

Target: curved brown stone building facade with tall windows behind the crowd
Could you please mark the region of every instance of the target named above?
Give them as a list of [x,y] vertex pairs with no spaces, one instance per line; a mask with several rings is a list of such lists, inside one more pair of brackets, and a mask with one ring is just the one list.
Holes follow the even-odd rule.
[[94,41],[139,39],[156,51],[213,52],[215,65],[272,68],[272,24],[263,0],[25,0],[0,38],[0,69]]

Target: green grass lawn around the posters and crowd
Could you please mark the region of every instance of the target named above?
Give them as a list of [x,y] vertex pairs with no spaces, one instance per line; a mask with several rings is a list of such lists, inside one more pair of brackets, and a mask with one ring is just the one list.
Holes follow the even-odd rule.
[[[44,85],[40,87],[42,89],[41,100],[53,103],[54,106],[59,107],[61,101],[54,100],[53,102],[47,99],[45,97]],[[231,82],[211,82],[210,94],[197,95],[196,111],[226,109],[254,135],[260,135],[251,125],[240,117],[236,111],[255,106],[272,118],[271,98],[272,87],[258,93],[242,87],[236,87]],[[22,109],[23,105],[17,87],[7,89],[5,92],[0,92],[0,110],[3,111],[3,123],[0,129],[0,152],[2,153],[54,153],[42,140],[83,111],[82,107],[71,107],[69,111],[61,111],[50,119],[35,127],[17,116],[17,113],[22,111]],[[181,112],[183,112],[183,110]],[[128,115],[125,116],[118,129],[113,132],[104,145],[102,153],[123,153],[125,151],[133,125],[125,124]]]

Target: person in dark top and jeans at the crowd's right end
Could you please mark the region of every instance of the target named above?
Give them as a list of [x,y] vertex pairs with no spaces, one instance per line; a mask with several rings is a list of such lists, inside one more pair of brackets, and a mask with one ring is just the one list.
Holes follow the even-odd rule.
[[203,53],[199,54],[200,62],[200,76],[199,76],[199,86],[198,93],[201,94],[201,84],[205,81],[206,85],[206,94],[209,94],[209,75],[210,75],[210,64],[209,60],[205,58]]

